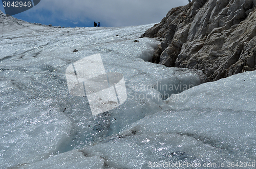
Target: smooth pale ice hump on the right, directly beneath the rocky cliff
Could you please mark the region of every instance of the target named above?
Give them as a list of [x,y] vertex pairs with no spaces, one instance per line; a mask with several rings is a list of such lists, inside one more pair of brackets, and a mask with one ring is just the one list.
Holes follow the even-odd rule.
[[183,92],[187,99],[168,98],[175,109],[215,108],[256,111],[256,71],[233,75],[215,82],[204,83]]

